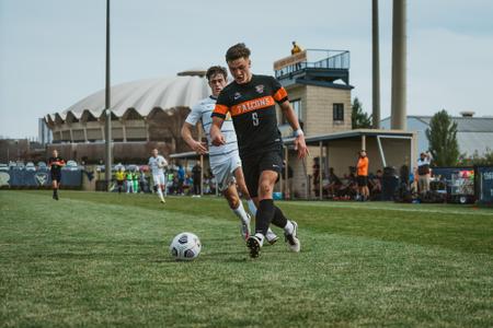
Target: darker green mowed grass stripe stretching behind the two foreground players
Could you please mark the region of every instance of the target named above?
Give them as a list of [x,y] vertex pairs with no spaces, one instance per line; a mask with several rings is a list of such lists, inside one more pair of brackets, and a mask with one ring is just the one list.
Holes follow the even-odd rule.
[[[28,195],[30,192],[27,192]],[[33,194],[33,192],[31,192]],[[24,195],[24,192],[21,192]],[[35,195],[43,197],[44,192]],[[216,220],[237,222],[226,201],[221,198],[172,197],[162,206],[157,197],[149,195],[114,195],[105,192],[64,191],[65,200],[77,199],[96,203],[113,203],[122,207],[154,209],[192,216],[207,216]],[[439,208],[442,212],[394,211],[395,207],[410,204],[397,203],[345,203],[328,206],[334,202],[277,202],[285,214],[300,223],[300,231],[339,235],[353,235],[376,239],[432,245],[467,253],[493,254],[493,215],[472,215],[491,210],[465,209],[463,214],[449,213],[446,206],[421,204],[423,208]],[[389,206],[390,210],[381,207]],[[416,206],[412,204],[411,207]],[[371,207],[379,207],[371,209]],[[420,207],[420,206],[417,206]],[[452,208],[457,208],[452,206]]]

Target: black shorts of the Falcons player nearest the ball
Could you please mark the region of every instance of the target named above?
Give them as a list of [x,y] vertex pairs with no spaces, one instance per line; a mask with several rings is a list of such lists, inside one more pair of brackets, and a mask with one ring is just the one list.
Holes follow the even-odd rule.
[[283,169],[283,154],[277,150],[244,156],[241,162],[250,197],[259,196],[259,179],[263,171],[277,172],[278,179]]

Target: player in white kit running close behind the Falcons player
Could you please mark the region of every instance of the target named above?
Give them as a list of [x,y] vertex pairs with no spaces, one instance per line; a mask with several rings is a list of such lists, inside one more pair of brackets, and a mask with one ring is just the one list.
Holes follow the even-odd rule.
[[[182,127],[182,137],[190,148],[198,154],[206,154],[208,150],[210,169],[216,176],[219,189],[228,200],[229,207],[241,220],[241,235],[246,239],[250,236],[250,215],[243,208],[238,195],[237,185],[243,197],[246,199],[249,210],[253,215],[256,213],[256,208],[253,200],[250,198],[244,181],[243,171],[241,169],[241,160],[238,153],[237,134],[231,118],[228,117],[221,128],[221,132],[226,138],[226,144],[219,147],[213,145],[209,133],[210,125],[213,122],[210,114],[214,110],[219,93],[227,84],[228,72],[220,66],[213,66],[207,70],[206,77],[213,94],[192,107],[192,112],[188,114],[188,117]],[[202,122],[204,132],[207,136],[208,148],[206,143],[196,141],[192,137],[192,128],[196,126],[198,121]],[[270,244],[274,244],[278,239],[271,230],[268,230],[266,238]]]

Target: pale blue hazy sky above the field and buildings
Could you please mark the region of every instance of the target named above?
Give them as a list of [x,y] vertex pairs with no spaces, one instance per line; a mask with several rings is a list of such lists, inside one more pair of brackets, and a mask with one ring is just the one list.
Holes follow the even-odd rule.
[[[104,89],[104,0],[0,0],[0,137],[37,136],[37,118]],[[390,115],[392,1],[379,1],[381,118]],[[492,116],[493,1],[408,1],[408,115]],[[351,51],[352,97],[371,112],[370,0],[113,0],[112,84],[225,65],[252,71],[303,48]]]

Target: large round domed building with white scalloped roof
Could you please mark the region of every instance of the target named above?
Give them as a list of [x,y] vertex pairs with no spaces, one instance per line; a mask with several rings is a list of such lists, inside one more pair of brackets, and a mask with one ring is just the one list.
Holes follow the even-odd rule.
[[[112,139],[115,162],[141,162],[151,149],[161,153],[188,151],[180,130],[190,108],[209,95],[203,70],[149,79],[111,89]],[[105,91],[101,90],[64,112],[47,115],[53,143],[62,156],[84,162],[104,159]]]

